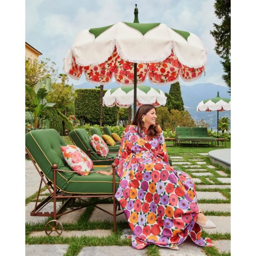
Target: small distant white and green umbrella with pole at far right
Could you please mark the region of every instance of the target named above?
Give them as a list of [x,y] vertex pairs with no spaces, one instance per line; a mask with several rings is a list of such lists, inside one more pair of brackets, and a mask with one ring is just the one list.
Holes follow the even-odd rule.
[[[219,97],[219,91],[217,97],[201,101],[197,107],[197,111],[217,111],[217,138],[219,138],[219,111],[231,110],[231,100],[227,98]],[[219,141],[218,141],[219,145]]]

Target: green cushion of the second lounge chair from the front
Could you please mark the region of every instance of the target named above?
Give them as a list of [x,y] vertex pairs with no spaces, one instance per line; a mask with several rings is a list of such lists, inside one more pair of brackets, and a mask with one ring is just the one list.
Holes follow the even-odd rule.
[[[79,128],[72,130],[69,132],[69,137],[72,139],[74,144],[78,146],[78,148],[90,156],[92,161],[105,160],[101,161],[99,165],[111,165],[115,161],[117,154],[108,154],[109,157],[113,158],[111,161],[107,160],[107,157],[101,157],[98,154],[95,154],[96,152],[90,144],[90,136],[85,129]],[[88,153],[88,149],[91,150],[91,154]]]

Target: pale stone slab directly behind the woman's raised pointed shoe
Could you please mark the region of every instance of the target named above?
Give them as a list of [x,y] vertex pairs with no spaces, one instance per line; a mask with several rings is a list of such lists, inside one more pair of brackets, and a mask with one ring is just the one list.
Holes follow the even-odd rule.
[[230,216],[207,216],[208,219],[213,221],[217,228],[203,228],[209,234],[213,233],[230,233],[231,217]]

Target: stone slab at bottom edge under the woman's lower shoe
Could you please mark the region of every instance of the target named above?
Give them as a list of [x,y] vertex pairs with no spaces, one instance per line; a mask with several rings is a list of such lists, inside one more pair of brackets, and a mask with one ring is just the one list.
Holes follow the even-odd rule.
[[174,251],[169,248],[159,249],[159,254],[161,256],[203,256],[206,255],[205,252],[202,251],[202,247],[196,245],[190,238],[187,238],[181,245],[179,245],[179,250]]

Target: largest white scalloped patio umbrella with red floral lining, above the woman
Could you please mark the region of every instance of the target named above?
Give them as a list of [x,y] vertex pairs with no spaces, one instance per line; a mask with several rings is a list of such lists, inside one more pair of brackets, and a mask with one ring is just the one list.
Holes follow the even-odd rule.
[[[137,22],[137,23],[136,23]],[[63,71],[71,78],[106,85],[114,77],[124,86],[133,86],[134,116],[137,84],[145,81],[164,85],[196,80],[206,66],[206,50],[193,33],[169,28],[162,23],[134,23],[82,30],[65,59]]]

